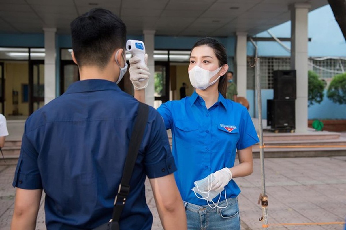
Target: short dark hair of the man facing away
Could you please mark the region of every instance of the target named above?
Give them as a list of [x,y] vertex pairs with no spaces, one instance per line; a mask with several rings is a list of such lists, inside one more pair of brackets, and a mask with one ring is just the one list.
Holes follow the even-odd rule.
[[126,26],[109,10],[94,8],[71,22],[71,37],[78,65],[103,69],[116,49],[125,48]]

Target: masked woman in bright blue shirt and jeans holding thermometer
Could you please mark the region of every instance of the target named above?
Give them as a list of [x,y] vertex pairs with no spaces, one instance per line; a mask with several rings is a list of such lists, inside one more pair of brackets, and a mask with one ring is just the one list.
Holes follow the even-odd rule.
[[[134,73],[140,77],[147,70],[137,63],[130,59],[134,86]],[[157,109],[166,129],[172,130],[178,169],[174,174],[188,228],[240,229],[240,189],[233,178],[252,173],[252,145],[259,141],[257,133],[247,109],[225,99],[228,64],[220,42],[212,38],[197,41],[188,71],[195,88],[191,97],[168,101]],[[143,93],[135,90],[135,97],[143,98]],[[235,166],[236,150],[239,164]]]

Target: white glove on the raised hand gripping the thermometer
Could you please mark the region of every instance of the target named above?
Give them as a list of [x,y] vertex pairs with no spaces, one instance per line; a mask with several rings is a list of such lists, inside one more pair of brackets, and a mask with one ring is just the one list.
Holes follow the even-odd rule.
[[[149,83],[149,68],[139,64],[140,59],[137,57],[130,58],[130,80],[135,89],[145,89]],[[144,55],[145,64],[148,63],[148,54]]]

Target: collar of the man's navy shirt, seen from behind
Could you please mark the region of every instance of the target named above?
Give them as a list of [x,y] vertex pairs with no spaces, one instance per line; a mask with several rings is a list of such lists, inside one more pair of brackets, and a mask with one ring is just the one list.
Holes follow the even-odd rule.
[[67,88],[65,94],[102,90],[120,90],[120,88],[115,82],[112,81],[102,79],[90,79],[74,82],[69,86],[69,88]]

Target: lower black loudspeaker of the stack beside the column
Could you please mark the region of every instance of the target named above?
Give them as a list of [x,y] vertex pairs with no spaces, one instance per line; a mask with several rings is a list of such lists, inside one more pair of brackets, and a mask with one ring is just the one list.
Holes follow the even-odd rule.
[[272,129],[295,129],[295,101],[267,100],[267,125]]

